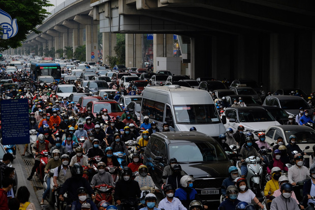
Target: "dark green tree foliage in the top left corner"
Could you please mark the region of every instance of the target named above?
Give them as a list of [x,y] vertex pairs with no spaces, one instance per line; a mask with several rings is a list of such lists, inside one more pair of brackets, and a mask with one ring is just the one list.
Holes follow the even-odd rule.
[[0,39],[0,52],[9,48],[22,46],[21,42],[26,36],[35,32],[41,32],[36,26],[43,23],[49,14],[44,8],[53,6],[48,0],[3,0],[0,1],[0,8],[9,13],[12,19],[17,19],[18,33],[10,39]]

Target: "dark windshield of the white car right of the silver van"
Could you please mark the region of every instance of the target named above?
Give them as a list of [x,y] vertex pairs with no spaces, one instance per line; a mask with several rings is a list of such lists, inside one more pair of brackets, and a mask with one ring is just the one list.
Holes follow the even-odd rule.
[[239,119],[241,122],[253,123],[253,122],[271,122],[274,121],[272,115],[266,110],[247,110],[239,111]]

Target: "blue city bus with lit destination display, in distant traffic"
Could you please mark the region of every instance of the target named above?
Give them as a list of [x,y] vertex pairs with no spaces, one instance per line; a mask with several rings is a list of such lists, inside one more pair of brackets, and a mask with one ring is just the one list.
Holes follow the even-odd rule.
[[30,74],[34,81],[38,76],[52,76],[56,81],[61,78],[60,64],[57,63],[31,63]]

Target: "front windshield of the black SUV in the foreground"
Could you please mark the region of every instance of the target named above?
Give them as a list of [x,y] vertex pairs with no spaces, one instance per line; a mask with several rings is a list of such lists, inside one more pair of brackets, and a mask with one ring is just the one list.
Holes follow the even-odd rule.
[[227,161],[227,156],[218,143],[207,141],[170,143],[170,157],[178,163]]

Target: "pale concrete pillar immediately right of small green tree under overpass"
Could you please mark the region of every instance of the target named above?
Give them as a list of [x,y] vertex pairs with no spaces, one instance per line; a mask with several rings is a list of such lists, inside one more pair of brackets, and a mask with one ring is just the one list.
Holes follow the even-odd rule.
[[142,68],[141,34],[126,34],[125,47],[125,65]]

